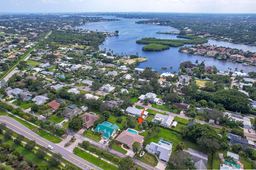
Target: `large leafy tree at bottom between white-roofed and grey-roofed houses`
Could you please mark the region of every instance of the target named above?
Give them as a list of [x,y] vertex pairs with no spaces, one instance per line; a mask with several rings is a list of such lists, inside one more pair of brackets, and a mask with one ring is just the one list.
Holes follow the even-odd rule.
[[171,154],[168,163],[174,166],[173,169],[182,170],[186,169],[186,162],[192,158],[191,154],[183,150],[177,150],[174,154]]

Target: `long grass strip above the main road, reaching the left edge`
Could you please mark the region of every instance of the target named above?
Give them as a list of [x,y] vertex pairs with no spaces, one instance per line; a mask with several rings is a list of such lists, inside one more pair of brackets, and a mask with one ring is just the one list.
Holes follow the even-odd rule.
[[43,137],[44,139],[47,139],[48,141],[51,141],[52,143],[60,143],[62,141],[60,138],[58,138],[54,135],[51,135],[42,129],[39,129],[38,127],[31,125],[30,123],[14,116],[14,115],[10,115],[9,113],[6,113],[6,112],[0,112],[0,115],[7,115],[9,117],[12,117],[16,121],[20,122],[22,125],[26,126],[28,129],[34,131],[34,133],[40,135],[41,137]]

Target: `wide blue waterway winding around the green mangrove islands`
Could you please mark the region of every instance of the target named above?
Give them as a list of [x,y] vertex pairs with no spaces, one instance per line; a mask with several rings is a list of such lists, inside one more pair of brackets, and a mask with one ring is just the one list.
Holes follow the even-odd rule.
[[[114,16],[101,16],[106,19],[115,18]],[[140,63],[139,68],[145,68],[146,66],[152,67],[158,72],[162,72],[161,68],[172,68],[172,72],[178,72],[178,67],[180,62],[182,61],[191,61],[195,63],[198,60],[199,63],[204,61],[206,66],[216,66],[216,68],[220,71],[228,70],[231,68],[234,72],[235,68],[238,70],[243,70],[248,73],[251,71],[256,71],[256,67],[251,66],[243,66],[240,63],[231,63],[226,61],[221,61],[218,59],[214,59],[211,57],[202,57],[199,55],[191,55],[185,54],[182,52],[178,52],[180,47],[170,47],[168,50],[158,51],[158,52],[148,52],[142,51],[142,47],[144,44],[137,44],[136,40],[142,39],[143,37],[156,37],[161,39],[180,39],[177,38],[176,35],[171,34],[160,34],[156,33],[157,31],[178,31],[172,27],[160,26],[160,25],[149,25],[149,24],[136,24],[135,21],[140,21],[142,19],[128,19],[128,18],[116,18],[121,21],[103,21],[103,22],[94,22],[88,23],[84,26],[76,27],[78,29],[88,29],[91,31],[119,31],[119,35],[115,35],[112,37],[107,37],[102,45],[100,45],[100,49],[106,49],[108,51],[113,50],[114,54],[118,53],[119,55],[123,54],[136,54],[139,56],[148,58],[148,61]],[[248,45],[239,45],[234,43],[228,43],[223,41],[216,41],[209,39],[207,44],[222,46],[222,47],[230,47],[236,49],[242,49],[244,51],[252,51],[256,52],[256,47],[248,46]],[[191,46],[189,44],[185,44],[184,46]],[[167,70],[169,71],[169,70]]]

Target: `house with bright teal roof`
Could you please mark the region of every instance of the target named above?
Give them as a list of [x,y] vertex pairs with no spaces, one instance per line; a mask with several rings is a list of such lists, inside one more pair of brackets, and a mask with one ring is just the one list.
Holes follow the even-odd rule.
[[119,126],[116,124],[108,125],[108,124],[99,123],[97,127],[94,129],[94,131],[102,133],[102,136],[104,138],[109,138],[116,134],[117,129],[119,129]]

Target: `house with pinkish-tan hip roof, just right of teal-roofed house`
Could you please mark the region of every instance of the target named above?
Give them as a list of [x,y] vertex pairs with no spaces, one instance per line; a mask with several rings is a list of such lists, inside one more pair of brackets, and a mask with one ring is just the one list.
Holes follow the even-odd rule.
[[144,137],[138,134],[130,133],[128,131],[122,131],[116,138],[116,141],[126,144],[129,148],[132,148],[134,142],[139,142],[142,146]]

